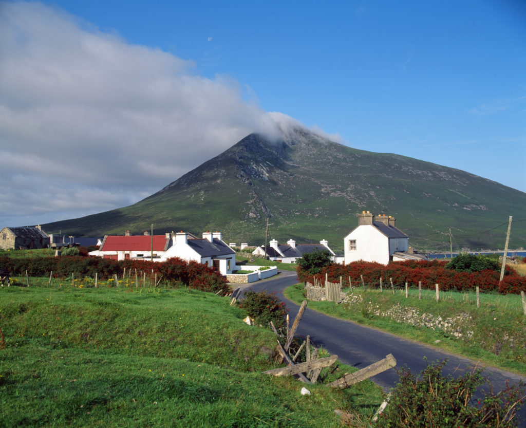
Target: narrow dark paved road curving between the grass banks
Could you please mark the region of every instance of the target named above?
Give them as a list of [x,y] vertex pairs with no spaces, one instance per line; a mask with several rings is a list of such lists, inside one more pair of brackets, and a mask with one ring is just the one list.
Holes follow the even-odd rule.
[[[287,304],[290,317],[294,320],[299,311],[299,306],[288,300],[283,295],[283,290],[297,282],[295,272],[280,271],[276,278],[252,283],[245,287],[245,290],[275,292]],[[312,341],[322,345],[331,354],[337,354],[339,361],[358,369],[385,358],[387,354],[393,354],[397,360],[398,368],[407,365],[412,372],[419,373],[427,366],[424,357],[427,357],[429,362],[447,358],[448,362],[444,366],[444,374],[460,375],[479,367],[483,369],[482,374],[490,380],[496,391],[502,390],[507,381],[510,384],[519,383],[520,380],[526,382],[526,378],[519,375],[494,367],[481,367],[467,358],[452,355],[418,342],[401,339],[398,336],[350,321],[338,320],[309,310],[308,306],[301,319],[297,334],[304,337],[310,335]],[[371,377],[371,380],[387,391],[398,381],[398,375],[395,370],[390,369]],[[523,406],[520,416],[522,419],[520,426],[526,428],[526,405]]]

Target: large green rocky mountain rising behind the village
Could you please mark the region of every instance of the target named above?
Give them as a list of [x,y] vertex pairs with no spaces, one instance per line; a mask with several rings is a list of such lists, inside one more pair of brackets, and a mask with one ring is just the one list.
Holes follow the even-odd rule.
[[[277,138],[250,134],[224,153],[124,208],[43,225],[75,236],[221,231],[227,242],[329,241],[363,210],[397,218],[422,250],[502,248],[508,217],[524,217],[526,193],[406,156],[357,150],[302,128]],[[510,248],[525,246],[526,222],[512,225]]]

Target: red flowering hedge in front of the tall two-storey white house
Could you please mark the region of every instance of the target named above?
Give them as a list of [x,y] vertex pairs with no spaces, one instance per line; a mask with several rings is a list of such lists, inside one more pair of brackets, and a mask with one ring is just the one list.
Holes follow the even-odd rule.
[[[325,274],[328,274],[330,282],[339,282],[340,276],[343,283],[349,283],[349,277],[353,286],[361,285],[361,277],[366,284],[379,286],[382,278],[383,286],[390,286],[389,278],[392,278],[395,286],[402,286],[406,282],[409,285],[418,285],[419,281],[423,288],[434,289],[434,284],[440,285],[440,290],[467,291],[474,290],[479,286],[480,291],[499,293],[520,293],[526,292],[526,276],[519,276],[515,271],[506,268],[506,275],[499,284],[500,272],[484,270],[480,272],[457,272],[445,268],[446,262],[438,260],[429,261],[404,261],[391,262],[382,265],[375,262],[352,262],[347,265],[332,264],[323,268],[323,271],[316,276],[320,282],[325,281]],[[298,279],[300,281],[312,282],[313,275],[297,267]]]

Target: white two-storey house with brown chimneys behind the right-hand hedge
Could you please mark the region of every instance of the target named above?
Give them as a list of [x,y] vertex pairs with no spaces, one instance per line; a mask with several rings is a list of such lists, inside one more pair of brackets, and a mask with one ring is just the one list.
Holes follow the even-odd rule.
[[343,238],[345,263],[363,260],[388,264],[390,261],[422,260],[409,246],[409,236],[395,227],[396,218],[369,211],[358,214],[358,226]]

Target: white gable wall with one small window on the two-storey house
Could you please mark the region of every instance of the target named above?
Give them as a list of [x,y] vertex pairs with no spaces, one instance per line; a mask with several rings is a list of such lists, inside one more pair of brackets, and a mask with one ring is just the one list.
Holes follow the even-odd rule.
[[[349,250],[349,240],[356,240],[356,251]],[[357,227],[345,237],[343,244],[346,264],[358,260],[389,263],[389,239],[374,226]]]

